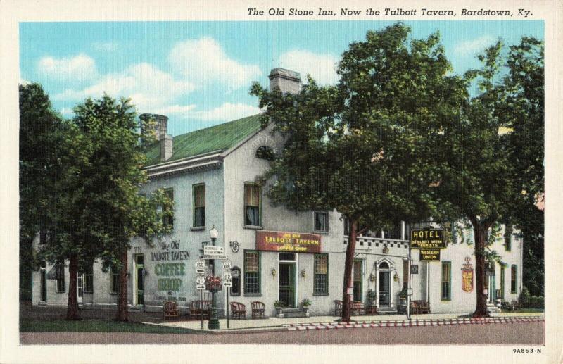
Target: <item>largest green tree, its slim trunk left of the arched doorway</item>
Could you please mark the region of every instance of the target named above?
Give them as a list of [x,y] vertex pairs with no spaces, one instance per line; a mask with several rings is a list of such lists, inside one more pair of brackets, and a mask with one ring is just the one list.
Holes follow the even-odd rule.
[[356,237],[368,228],[429,218],[438,168],[429,163],[443,120],[459,114],[467,96],[449,75],[438,34],[410,39],[402,23],[369,31],[350,44],[339,84],[319,87],[310,77],[298,94],[251,93],[265,109],[262,122],[286,136],[263,180],[273,179],[274,203],[296,210],[336,209],[349,222],[343,275],[343,316],[350,320]]

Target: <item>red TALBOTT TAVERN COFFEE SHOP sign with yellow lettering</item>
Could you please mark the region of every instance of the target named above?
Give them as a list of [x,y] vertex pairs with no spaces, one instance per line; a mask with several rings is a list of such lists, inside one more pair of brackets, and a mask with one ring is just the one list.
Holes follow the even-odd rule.
[[300,232],[256,232],[256,250],[320,253],[321,236]]

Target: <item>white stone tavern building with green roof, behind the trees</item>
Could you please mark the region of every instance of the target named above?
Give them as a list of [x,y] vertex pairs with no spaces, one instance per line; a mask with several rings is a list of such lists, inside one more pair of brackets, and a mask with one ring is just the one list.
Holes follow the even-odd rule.
[[[301,87],[298,73],[274,69],[271,85],[289,91]],[[143,117],[143,115],[141,115]],[[334,314],[334,301],[342,299],[343,268],[348,241],[345,222],[336,211],[296,213],[270,205],[255,178],[269,167],[264,157],[279,151],[282,138],[272,134],[272,125],[262,129],[258,116],[234,120],[177,137],[167,135],[167,118],[155,115],[160,142],[148,152],[150,182],[147,192],[167,189],[175,201],[173,232],[159,244],[149,246],[133,241],[129,251],[127,300],[132,308],[162,309],[163,301],[174,300],[182,311],[200,298],[196,289],[196,260],[210,241],[209,231],[219,232],[217,246],[223,246],[238,271],[229,300],[246,305],[265,303],[266,314],[274,315],[274,301],[298,307],[310,299],[311,315]],[[380,312],[398,307],[398,294],[408,279],[409,227],[394,232],[360,236],[354,261],[355,301],[367,302],[369,290],[377,294]],[[289,235],[288,235],[289,234]],[[375,237],[377,236],[377,237]],[[441,261],[420,262],[412,249],[411,275],[414,300],[428,301],[433,313],[469,313],[475,308],[475,282],[470,291],[462,289],[462,268],[474,267],[473,246],[462,243],[472,232],[456,234],[456,244],[441,250]],[[303,244],[265,241],[301,239]],[[284,241],[284,240],[282,240]],[[304,242],[303,242],[304,241]],[[288,248],[293,246],[293,248]],[[517,234],[504,234],[493,247],[506,263],[495,263],[495,275],[488,277],[489,296],[505,301],[517,299],[521,291],[522,241]],[[222,266],[217,261],[217,275]],[[68,268],[46,265],[32,274],[34,305],[66,305]],[[474,280],[473,280],[474,281]],[[114,306],[117,301],[117,274],[104,273],[94,264],[91,274],[79,277],[79,301],[88,306]],[[467,289],[467,287],[466,287]],[[497,291],[499,289],[499,291]],[[226,289],[217,294],[220,314],[226,309]]]

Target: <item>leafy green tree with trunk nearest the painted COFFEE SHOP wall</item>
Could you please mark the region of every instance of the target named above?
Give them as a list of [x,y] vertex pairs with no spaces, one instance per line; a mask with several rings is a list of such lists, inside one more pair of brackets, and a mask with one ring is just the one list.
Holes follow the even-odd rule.
[[[127,251],[134,237],[151,244],[170,231],[163,216],[172,217],[172,201],[162,190],[144,194],[148,182],[144,141],[154,140],[154,120],[137,121],[129,100],[104,95],[75,107],[73,123],[84,135],[88,158],[80,182],[85,194],[85,222],[94,222],[101,244],[97,256],[105,268],[120,271],[115,320],[127,321]],[[148,125],[144,125],[148,123]],[[95,195],[95,196],[94,196]],[[160,206],[160,208],[159,208]],[[91,210],[89,210],[91,207]]]

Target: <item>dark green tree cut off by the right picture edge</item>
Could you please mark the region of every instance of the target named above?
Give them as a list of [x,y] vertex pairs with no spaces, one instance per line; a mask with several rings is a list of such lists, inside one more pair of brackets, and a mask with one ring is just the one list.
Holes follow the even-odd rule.
[[524,238],[524,286],[543,296],[544,198],[544,44],[523,37],[510,46],[505,113],[510,116],[510,156],[521,193],[514,203],[512,221]]

